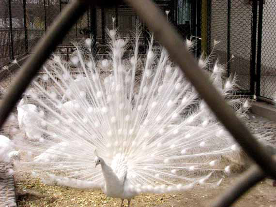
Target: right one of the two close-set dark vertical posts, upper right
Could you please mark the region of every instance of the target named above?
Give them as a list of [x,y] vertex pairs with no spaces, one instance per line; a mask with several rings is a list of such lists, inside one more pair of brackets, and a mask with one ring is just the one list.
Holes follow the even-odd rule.
[[256,96],[261,96],[261,38],[262,38],[263,0],[259,0],[259,25],[256,71]]

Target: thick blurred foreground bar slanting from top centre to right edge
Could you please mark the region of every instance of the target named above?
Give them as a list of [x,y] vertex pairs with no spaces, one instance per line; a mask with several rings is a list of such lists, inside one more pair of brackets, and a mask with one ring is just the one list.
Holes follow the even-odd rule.
[[184,44],[184,41],[172,25],[167,22],[166,17],[160,13],[151,0],[125,1],[134,7],[142,20],[154,32],[159,43],[166,47],[171,59],[180,66],[185,76],[215,113],[215,116],[244,148],[245,152],[265,172],[276,178],[276,162],[269,152],[257,142],[245,124],[237,118],[233,109],[224,101],[187,49],[179,47],[179,45]]

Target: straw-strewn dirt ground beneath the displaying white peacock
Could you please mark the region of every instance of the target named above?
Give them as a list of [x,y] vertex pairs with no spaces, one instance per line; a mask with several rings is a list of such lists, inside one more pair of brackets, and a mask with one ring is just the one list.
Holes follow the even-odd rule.
[[[181,194],[140,194],[132,199],[131,207],[208,207],[238,176],[225,178],[216,188],[196,186]],[[15,185],[18,207],[120,207],[121,204],[120,199],[108,198],[100,190],[47,186],[28,174],[15,175]],[[266,179],[233,206],[276,207],[276,187],[272,186],[272,180]],[[127,207],[127,201],[124,207]]]

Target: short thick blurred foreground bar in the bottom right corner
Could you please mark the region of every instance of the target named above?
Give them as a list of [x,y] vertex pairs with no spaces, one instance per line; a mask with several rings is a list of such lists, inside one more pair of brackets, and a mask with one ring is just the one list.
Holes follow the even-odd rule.
[[222,195],[215,199],[212,207],[230,207],[235,200],[265,177],[266,174],[257,165],[253,165],[234,185],[230,186]]

